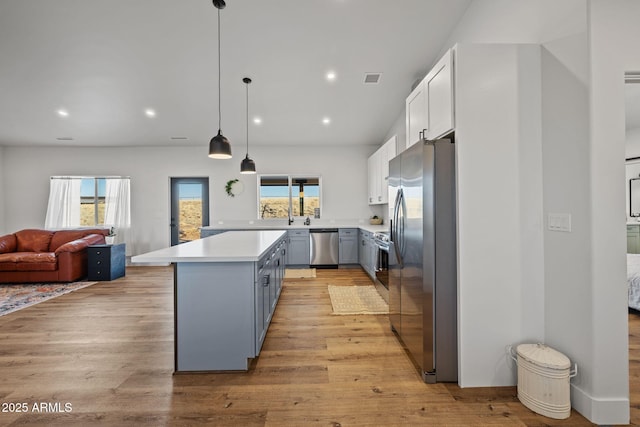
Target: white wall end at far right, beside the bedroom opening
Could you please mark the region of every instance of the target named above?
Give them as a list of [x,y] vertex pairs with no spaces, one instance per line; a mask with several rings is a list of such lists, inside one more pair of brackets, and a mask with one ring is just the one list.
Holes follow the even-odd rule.
[[593,369],[576,396],[590,420],[629,419],[624,72],[640,69],[640,2],[589,0]]

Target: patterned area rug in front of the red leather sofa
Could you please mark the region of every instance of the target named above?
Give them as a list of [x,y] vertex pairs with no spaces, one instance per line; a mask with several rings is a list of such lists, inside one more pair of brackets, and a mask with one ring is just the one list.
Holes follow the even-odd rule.
[[98,282],[0,284],[0,316]]

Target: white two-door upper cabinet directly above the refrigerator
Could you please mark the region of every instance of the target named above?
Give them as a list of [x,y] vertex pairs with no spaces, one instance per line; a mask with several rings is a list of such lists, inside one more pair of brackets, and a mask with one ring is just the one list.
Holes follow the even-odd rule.
[[405,101],[406,147],[454,128],[453,55],[448,50]]

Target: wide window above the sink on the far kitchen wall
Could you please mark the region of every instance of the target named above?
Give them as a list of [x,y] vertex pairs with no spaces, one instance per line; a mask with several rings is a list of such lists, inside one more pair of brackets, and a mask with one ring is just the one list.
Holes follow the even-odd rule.
[[258,182],[258,218],[314,216],[321,208],[320,177],[261,175]]

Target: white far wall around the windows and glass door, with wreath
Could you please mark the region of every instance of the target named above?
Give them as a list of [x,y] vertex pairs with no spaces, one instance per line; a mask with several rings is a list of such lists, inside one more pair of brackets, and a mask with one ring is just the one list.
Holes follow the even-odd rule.
[[[259,173],[322,176],[323,219],[366,220],[367,157],[374,146],[256,147]],[[43,148],[6,147],[2,176],[20,176],[5,192],[6,229],[42,227],[52,175],[131,176],[133,255],[169,244],[169,178],[208,176],[211,223],[257,219],[257,178],[241,175],[240,152],[212,160],[206,147]],[[244,192],[229,197],[226,182],[238,178]],[[28,207],[28,208],[27,208]]]

